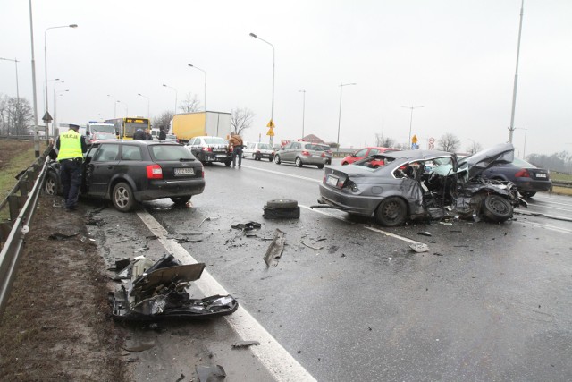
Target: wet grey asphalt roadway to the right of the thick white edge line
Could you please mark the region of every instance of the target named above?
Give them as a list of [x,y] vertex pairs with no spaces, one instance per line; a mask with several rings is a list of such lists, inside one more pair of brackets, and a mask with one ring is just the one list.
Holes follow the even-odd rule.
[[[501,225],[386,229],[307,208],[322,175],[206,166],[192,208],[145,208],[172,237],[199,239],[181,245],[318,380],[572,380],[571,199],[539,194]],[[300,218],[263,219],[269,199],[298,200]],[[262,224],[256,237],[231,228],[249,221]],[[267,268],[277,228],[286,246]]]

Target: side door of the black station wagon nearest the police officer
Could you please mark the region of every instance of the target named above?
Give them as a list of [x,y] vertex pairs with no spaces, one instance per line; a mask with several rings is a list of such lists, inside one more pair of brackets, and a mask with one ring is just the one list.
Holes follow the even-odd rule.
[[119,164],[119,143],[102,143],[94,157],[86,164],[86,192],[105,196],[115,167]]

